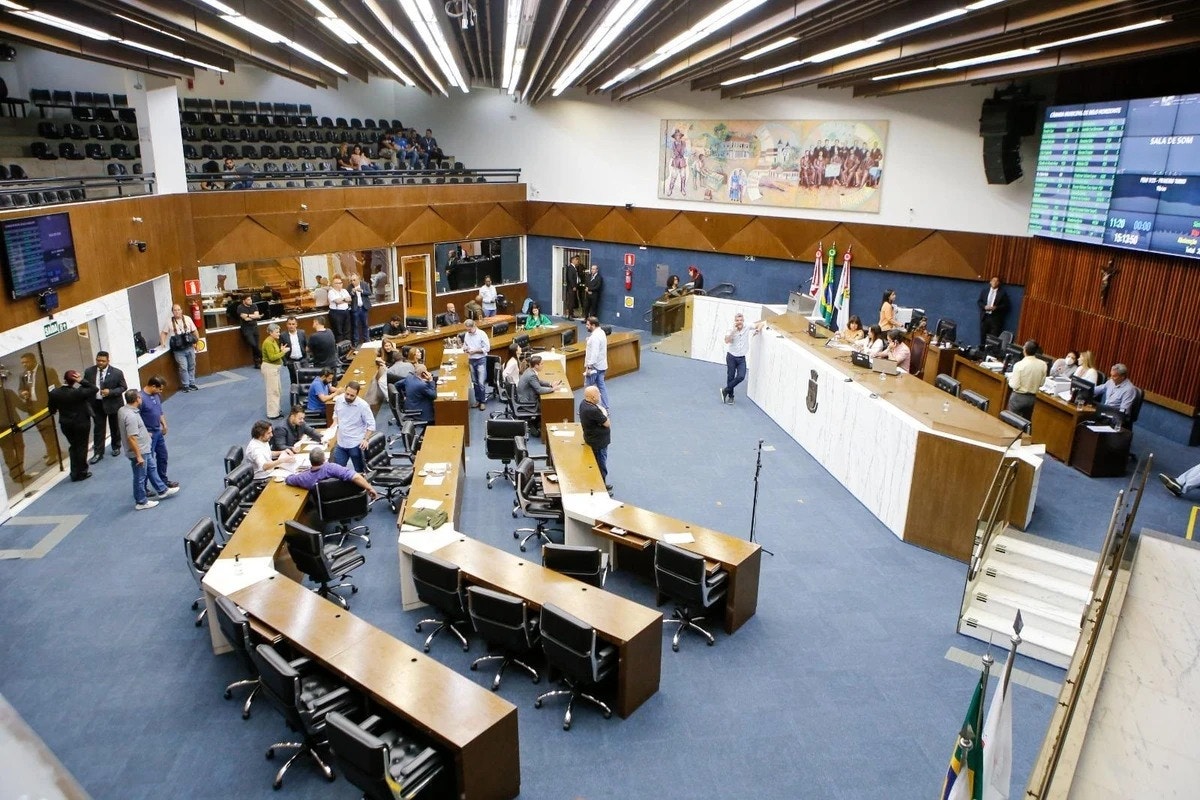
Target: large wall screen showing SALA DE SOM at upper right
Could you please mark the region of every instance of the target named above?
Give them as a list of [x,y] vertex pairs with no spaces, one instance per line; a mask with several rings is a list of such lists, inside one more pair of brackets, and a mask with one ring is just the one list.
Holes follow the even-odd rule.
[[1048,108],[1028,230],[1200,258],[1200,95]]

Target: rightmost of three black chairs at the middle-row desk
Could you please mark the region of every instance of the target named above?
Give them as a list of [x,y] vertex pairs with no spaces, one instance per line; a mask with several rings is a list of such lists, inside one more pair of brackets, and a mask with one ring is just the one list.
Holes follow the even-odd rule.
[[612,716],[612,709],[584,690],[605,680],[617,668],[614,645],[602,644],[594,627],[558,606],[546,603],[541,607],[541,649],[550,668],[563,674],[566,688],[540,694],[534,700],[534,708],[540,709],[548,697],[566,694],[570,699],[566,702],[563,730],[571,729],[571,708],[577,698],[600,709],[605,720]]

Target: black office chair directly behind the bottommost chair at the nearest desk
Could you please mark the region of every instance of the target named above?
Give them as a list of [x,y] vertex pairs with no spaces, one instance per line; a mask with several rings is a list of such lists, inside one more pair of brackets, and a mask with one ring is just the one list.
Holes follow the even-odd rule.
[[283,715],[288,727],[304,736],[301,741],[277,741],[266,748],[268,758],[275,758],[280,748],[296,751],[275,774],[272,788],[283,786],[283,775],[302,754],[310,756],[325,780],[332,781],[334,770],[325,763],[329,758],[325,716],[330,711],[344,714],[354,708],[350,690],[319,672],[311,661],[293,666],[294,662],[288,662],[269,644],[259,644],[250,655],[258,667],[263,694]]

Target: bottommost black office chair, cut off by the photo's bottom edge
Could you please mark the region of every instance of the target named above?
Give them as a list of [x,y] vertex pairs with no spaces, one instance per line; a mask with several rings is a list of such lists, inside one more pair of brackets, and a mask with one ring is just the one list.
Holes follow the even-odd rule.
[[442,754],[400,730],[373,732],[382,722],[378,715],[359,723],[338,711],[325,716],[325,735],[346,780],[362,790],[364,800],[408,800],[426,789],[442,796],[437,789],[445,770]]

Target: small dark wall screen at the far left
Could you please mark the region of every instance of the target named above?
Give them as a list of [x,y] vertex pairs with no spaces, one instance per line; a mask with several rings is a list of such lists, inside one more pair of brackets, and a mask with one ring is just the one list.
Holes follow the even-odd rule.
[[5,278],[13,300],[79,279],[71,215],[48,213],[0,222]]

